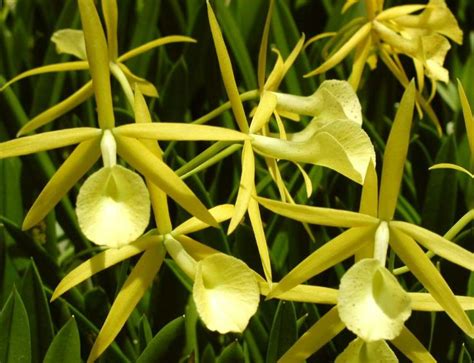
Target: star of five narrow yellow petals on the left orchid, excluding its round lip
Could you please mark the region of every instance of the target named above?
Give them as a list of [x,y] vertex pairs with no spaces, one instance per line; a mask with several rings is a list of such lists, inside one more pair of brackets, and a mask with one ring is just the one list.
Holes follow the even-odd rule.
[[[104,137],[113,141],[119,156],[146,178],[160,186],[189,213],[211,225],[216,225],[214,218],[191,189],[140,140],[143,138],[151,140],[243,141],[249,137],[237,131],[205,125],[136,123],[115,127],[107,46],[100,19],[91,0],[80,0],[79,8],[100,128],[80,127],[51,131],[0,143],[1,159],[79,143],[40,193],[25,217],[22,228],[29,229],[43,219],[68,190],[95,164],[101,154],[100,144]],[[135,103],[143,109],[147,108],[144,102],[139,88],[136,88]],[[137,118],[143,117],[146,117],[143,112],[137,113]],[[115,153],[112,154],[115,157]]]

